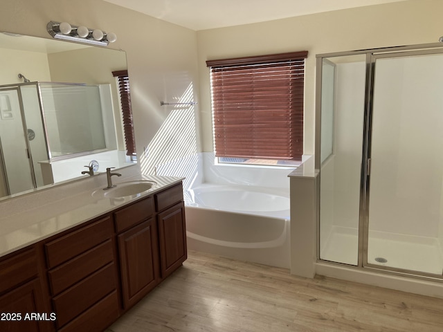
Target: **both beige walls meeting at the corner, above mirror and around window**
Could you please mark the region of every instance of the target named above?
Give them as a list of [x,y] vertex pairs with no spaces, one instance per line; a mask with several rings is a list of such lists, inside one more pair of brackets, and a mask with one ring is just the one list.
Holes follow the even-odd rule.
[[[308,50],[305,154],[313,154],[315,55],[436,42],[443,35],[441,12],[443,1],[410,0],[195,33],[101,0],[84,0],[82,6],[69,0],[15,0],[0,3],[0,30],[50,38],[46,24],[55,20],[116,33],[118,40],[109,47],[127,52],[138,157],[150,173],[178,154],[213,150],[206,59]],[[162,100],[181,100],[185,92],[199,102],[195,108],[160,106]],[[177,139],[174,127],[182,117],[192,135],[182,128]],[[182,145],[194,137],[197,142]]]

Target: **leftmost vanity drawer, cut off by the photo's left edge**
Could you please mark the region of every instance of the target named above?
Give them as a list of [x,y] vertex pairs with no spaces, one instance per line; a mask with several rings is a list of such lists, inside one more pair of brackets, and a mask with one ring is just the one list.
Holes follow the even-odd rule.
[[37,275],[35,249],[26,250],[0,262],[0,293]]

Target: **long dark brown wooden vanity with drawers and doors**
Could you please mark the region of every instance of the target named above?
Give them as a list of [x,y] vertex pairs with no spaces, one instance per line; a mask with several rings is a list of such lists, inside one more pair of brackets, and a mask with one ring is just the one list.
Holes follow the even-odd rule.
[[0,258],[0,331],[102,331],[186,260],[181,180],[98,206]]

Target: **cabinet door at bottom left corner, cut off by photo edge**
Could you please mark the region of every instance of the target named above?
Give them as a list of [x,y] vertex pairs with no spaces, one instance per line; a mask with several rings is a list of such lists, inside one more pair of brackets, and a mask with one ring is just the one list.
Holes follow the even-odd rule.
[[[34,279],[0,297],[0,331],[51,331],[55,315],[42,306],[39,279]],[[35,314],[39,313],[39,317]]]

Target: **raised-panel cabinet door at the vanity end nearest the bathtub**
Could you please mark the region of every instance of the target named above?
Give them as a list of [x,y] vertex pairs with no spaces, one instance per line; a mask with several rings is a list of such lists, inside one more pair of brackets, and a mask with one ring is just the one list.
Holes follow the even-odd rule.
[[161,277],[167,277],[188,257],[183,203],[158,214]]

